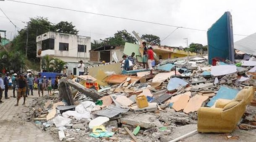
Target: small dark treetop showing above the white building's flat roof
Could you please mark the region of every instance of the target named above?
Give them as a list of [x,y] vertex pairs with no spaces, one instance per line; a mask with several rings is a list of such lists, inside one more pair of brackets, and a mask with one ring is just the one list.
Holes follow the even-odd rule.
[[75,29],[76,26],[72,24],[72,22],[68,21],[61,21],[60,23],[57,23],[54,28],[59,33],[68,33],[68,34],[78,34],[78,30]]

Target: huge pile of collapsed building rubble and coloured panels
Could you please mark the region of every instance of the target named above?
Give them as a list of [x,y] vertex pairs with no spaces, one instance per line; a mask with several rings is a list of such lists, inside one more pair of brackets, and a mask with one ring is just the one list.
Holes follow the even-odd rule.
[[[214,107],[256,85],[255,67],[228,61],[209,66],[201,57],[166,60],[153,75],[136,66],[121,71],[120,63],[107,63],[77,79],[61,79],[59,92],[31,104],[32,119],[60,140],[161,141],[177,127],[196,124],[201,106]],[[240,129],[256,128],[255,104],[254,98]]]

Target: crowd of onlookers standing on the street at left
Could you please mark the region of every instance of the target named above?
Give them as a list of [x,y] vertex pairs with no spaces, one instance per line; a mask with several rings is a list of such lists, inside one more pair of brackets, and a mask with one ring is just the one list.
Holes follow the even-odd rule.
[[18,106],[18,102],[21,99],[21,97],[24,98],[24,102],[22,105],[25,104],[26,97],[29,95],[29,92],[31,91],[31,95],[33,95],[33,89],[38,89],[38,95],[40,96],[40,92],[42,93],[42,96],[44,96],[44,90],[48,91],[48,95],[52,94],[52,87],[54,89],[58,88],[59,84],[59,76],[55,78],[54,85],[52,85],[52,79],[47,79],[46,76],[43,76],[41,78],[41,75],[37,75],[33,77],[32,73],[29,72],[28,74],[10,74],[6,72],[6,74],[3,76],[3,74],[0,74],[0,103],[3,103],[3,92],[5,94],[5,99],[9,99],[8,97],[8,90],[10,87],[9,82],[11,81],[12,91],[13,91],[13,98],[16,98],[17,92],[17,104],[15,106]]

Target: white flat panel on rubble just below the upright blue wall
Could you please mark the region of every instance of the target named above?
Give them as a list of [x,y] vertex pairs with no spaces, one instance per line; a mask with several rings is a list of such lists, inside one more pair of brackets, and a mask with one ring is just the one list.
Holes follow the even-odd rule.
[[234,65],[219,65],[219,66],[212,66],[211,74],[213,76],[223,76],[226,74],[232,74],[235,73],[236,66]]

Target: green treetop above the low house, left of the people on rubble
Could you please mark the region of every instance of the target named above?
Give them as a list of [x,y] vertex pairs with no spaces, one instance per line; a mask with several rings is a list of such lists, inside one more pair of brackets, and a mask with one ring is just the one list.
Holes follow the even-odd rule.
[[128,33],[127,30],[118,30],[118,32],[114,34],[114,37],[105,39],[105,43],[110,46],[124,46],[125,42],[136,43],[137,40],[131,33]]

